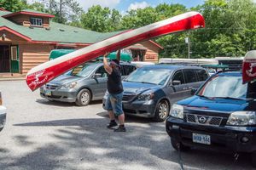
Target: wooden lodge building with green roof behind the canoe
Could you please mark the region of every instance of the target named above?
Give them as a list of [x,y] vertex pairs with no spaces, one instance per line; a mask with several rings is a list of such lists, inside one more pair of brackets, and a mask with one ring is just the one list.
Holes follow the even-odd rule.
[[[119,33],[61,25],[52,22],[53,17],[30,9],[11,13],[0,8],[0,73],[26,74],[32,67],[48,61],[52,49],[84,48]],[[126,49],[135,60],[157,62],[162,47],[149,40]]]

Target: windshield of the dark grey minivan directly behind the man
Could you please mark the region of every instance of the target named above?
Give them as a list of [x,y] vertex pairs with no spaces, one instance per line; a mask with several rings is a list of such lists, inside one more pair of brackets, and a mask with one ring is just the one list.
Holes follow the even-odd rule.
[[142,82],[163,85],[170,76],[171,70],[143,67],[131,73],[125,82]]

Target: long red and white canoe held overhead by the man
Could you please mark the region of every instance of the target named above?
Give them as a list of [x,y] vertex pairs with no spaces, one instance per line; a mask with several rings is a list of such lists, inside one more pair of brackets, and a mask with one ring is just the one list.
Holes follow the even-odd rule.
[[73,67],[82,65],[91,59],[96,59],[98,56],[106,54],[106,52],[116,51],[119,48],[125,48],[150,38],[160,37],[177,31],[202,28],[204,26],[205,20],[200,13],[189,12],[132,31],[126,31],[32,68],[26,75],[26,83],[34,91],[46,82],[73,69]]

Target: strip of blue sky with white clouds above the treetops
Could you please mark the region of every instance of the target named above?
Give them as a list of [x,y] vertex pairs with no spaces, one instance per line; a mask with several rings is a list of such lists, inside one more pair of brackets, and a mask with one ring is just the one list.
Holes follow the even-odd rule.
[[[29,3],[37,0],[28,0]],[[146,8],[148,6],[155,7],[160,3],[180,3],[187,8],[195,7],[196,5],[204,3],[204,0],[77,0],[81,7],[86,11],[93,5],[101,5],[102,7],[116,8],[121,13],[125,13],[131,9]]]

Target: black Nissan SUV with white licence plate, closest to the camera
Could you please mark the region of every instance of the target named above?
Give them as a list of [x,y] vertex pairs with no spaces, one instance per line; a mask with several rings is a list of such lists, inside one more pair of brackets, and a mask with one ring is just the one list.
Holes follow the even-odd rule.
[[256,82],[242,84],[240,71],[223,71],[194,93],[172,105],[166,120],[172,147],[247,152],[256,166]]

